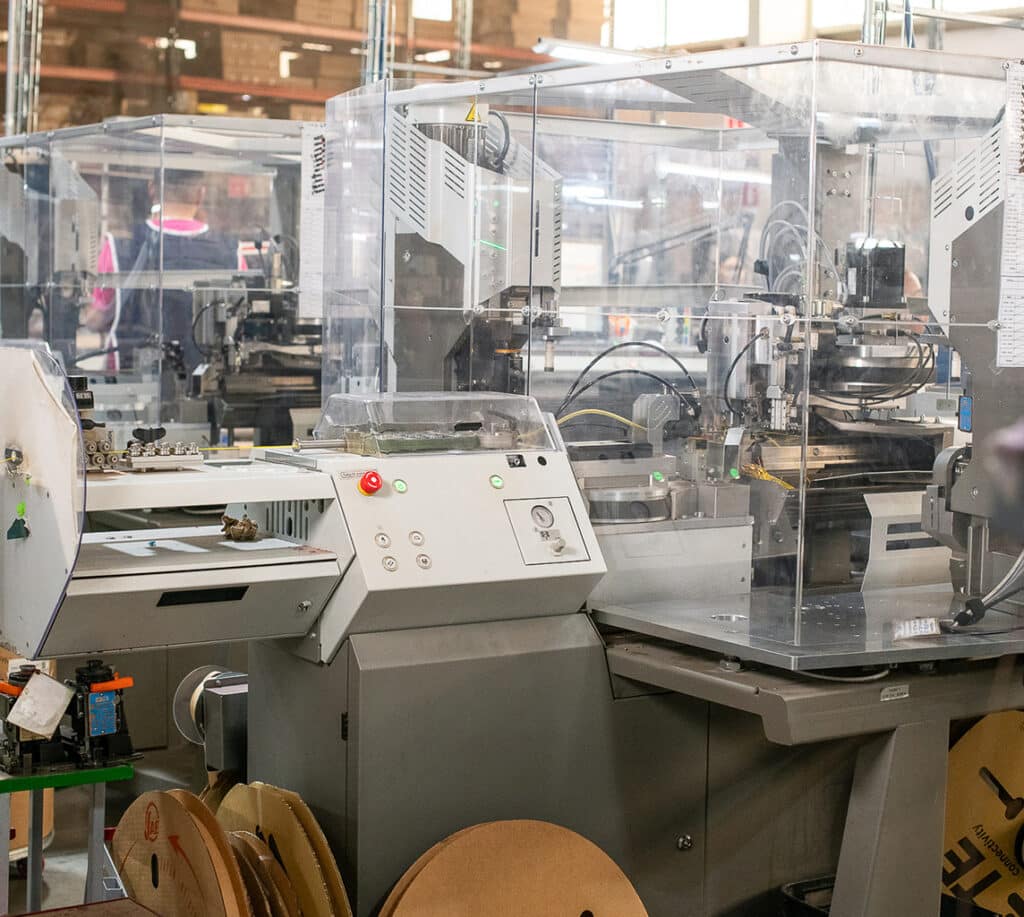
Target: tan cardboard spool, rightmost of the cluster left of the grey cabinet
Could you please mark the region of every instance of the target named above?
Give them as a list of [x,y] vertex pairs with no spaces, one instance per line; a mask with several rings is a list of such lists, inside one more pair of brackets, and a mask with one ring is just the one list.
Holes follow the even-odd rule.
[[285,867],[303,917],[343,917],[335,913],[309,837],[280,793],[240,783],[224,796],[217,821],[227,831],[250,831],[265,841]]

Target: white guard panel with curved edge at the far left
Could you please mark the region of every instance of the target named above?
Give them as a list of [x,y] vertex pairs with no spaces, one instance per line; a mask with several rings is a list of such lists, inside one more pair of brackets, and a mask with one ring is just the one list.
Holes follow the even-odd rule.
[[68,380],[46,345],[0,343],[0,643],[33,658],[78,558],[85,449]]

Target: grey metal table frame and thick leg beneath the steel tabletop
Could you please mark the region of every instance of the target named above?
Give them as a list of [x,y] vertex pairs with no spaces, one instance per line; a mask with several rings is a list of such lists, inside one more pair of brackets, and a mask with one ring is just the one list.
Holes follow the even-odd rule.
[[609,636],[612,675],[759,716],[765,737],[860,747],[834,917],[938,914],[950,722],[1024,707],[1024,659],[1002,656],[826,683],[636,634]]

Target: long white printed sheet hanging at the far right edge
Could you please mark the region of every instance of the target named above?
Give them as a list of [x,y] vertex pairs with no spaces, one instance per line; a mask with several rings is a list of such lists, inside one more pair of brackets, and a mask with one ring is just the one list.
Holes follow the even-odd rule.
[[1005,116],[1002,259],[999,268],[999,330],[995,364],[1024,366],[1024,64],[1007,71]]

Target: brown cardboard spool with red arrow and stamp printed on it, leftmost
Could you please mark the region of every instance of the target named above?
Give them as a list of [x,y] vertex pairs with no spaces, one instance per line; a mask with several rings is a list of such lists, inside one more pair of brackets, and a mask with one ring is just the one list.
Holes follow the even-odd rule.
[[[114,834],[114,863],[128,896],[161,917],[229,917],[199,824],[168,793],[139,796]],[[228,891],[230,888],[228,886]]]

